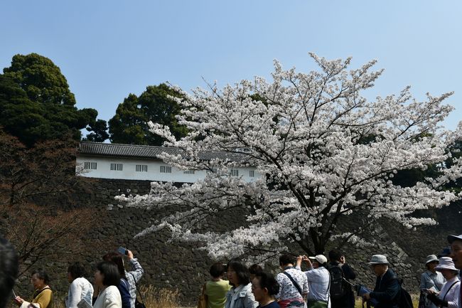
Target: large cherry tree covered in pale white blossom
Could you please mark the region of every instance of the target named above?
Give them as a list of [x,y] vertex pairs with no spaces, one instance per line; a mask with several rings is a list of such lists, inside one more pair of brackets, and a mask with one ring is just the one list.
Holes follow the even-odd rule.
[[[326,60],[310,73],[284,70],[274,63],[272,81],[256,77],[219,89],[182,92],[178,123],[188,135],[176,139],[168,127],[151,131],[182,155],[161,158],[179,169],[209,171],[193,184],[152,183],[144,196],[118,196],[127,206],[176,211],[136,236],[163,228],[173,240],[203,243],[215,259],[252,254],[260,260],[286,250],[286,240],[307,253],[323,253],[333,238],[361,244],[364,225],[339,232],[342,217],[364,218],[373,225],[390,218],[414,228],[435,224],[416,218],[417,210],[441,208],[461,197],[442,189],[461,176],[461,161],[448,147],[461,136],[441,127],[453,107],[452,93],[417,101],[409,87],[399,95],[367,100],[362,90],[374,85],[382,70],[375,61],[350,70],[350,58]],[[178,91],[181,91],[178,89]],[[245,149],[245,150],[242,150]],[[209,152],[227,155],[205,155]],[[444,161],[451,161],[445,164]],[[256,181],[231,176],[230,169],[255,166]],[[409,187],[393,183],[398,171],[436,166],[437,176]],[[200,227],[218,215],[247,211],[245,223],[219,233]]]

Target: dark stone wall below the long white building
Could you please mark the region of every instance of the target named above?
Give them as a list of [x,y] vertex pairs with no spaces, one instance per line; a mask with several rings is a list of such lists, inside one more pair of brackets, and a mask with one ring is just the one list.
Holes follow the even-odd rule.
[[[149,181],[124,181],[107,179],[88,179],[91,181],[90,191],[75,192],[68,206],[96,208],[99,215],[98,224],[93,227],[92,238],[87,240],[101,243],[101,249],[96,249],[91,256],[85,257],[92,269],[99,262],[101,256],[107,253],[107,249],[115,249],[124,246],[134,252],[141,265],[144,267],[144,276],[141,285],[153,285],[159,288],[173,288],[180,291],[180,299],[183,304],[195,304],[200,286],[208,279],[208,268],[212,261],[207,253],[197,250],[193,244],[167,243],[168,234],[165,232],[134,238],[144,228],[149,227],[156,219],[175,211],[167,209],[162,213],[156,210],[139,208],[125,208],[119,205],[114,196],[121,193],[144,194],[149,191]],[[226,217],[210,222],[213,228],[227,230],[243,221],[245,213],[227,213]],[[460,221],[460,206],[453,205],[433,213],[441,221],[440,225],[426,227],[419,230],[407,230],[392,221],[382,221],[375,225],[370,237],[379,238],[380,244],[368,248],[355,248],[350,245],[343,247],[348,264],[358,272],[356,282],[373,287],[373,277],[367,260],[377,253],[387,255],[392,267],[400,277],[404,278],[404,286],[407,290],[417,292],[419,277],[424,270],[425,256],[431,253],[439,253],[446,245],[446,236],[462,233]],[[225,219],[225,221],[223,221]],[[225,222],[225,223],[224,223]],[[357,220],[346,217],[341,223],[345,230],[353,227]],[[210,226],[210,225],[209,225]],[[291,246],[294,247],[294,246]],[[328,247],[327,249],[331,249]],[[293,253],[301,253],[299,248],[294,247]],[[76,256],[75,259],[78,259]],[[43,264],[51,272],[53,288],[64,294],[68,289],[65,273],[69,262],[74,260],[47,260]],[[222,260],[226,262],[227,260]],[[267,270],[276,273],[276,267],[269,266]],[[23,277],[20,289],[27,290],[28,278]],[[30,290],[29,290],[30,292]]]

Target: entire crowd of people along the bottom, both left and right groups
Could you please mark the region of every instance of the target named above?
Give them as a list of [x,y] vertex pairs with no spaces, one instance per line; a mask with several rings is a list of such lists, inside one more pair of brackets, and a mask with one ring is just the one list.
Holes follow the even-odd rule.
[[[426,257],[421,275],[419,308],[462,308],[461,280],[462,235],[449,235],[449,248]],[[107,253],[95,271],[92,285],[85,267],[75,262],[68,267],[70,287],[66,308],[135,308],[136,285],[143,268],[127,250],[131,270],[127,272],[124,255]],[[284,254],[279,257],[281,272],[270,275],[260,265],[247,267],[238,259],[210,267],[210,281],[203,286],[207,308],[353,308],[355,296],[375,308],[400,308],[404,290],[385,255],[372,255],[368,262],[376,276],[373,290],[354,283],[356,274],[345,255],[331,250],[324,255],[306,257]],[[302,268],[304,267],[304,268]],[[0,238],[0,308],[11,300],[21,308],[52,308],[53,290],[44,270],[35,270],[31,283],[35,292],[30,302],[14,293],[18,275],[18,256],[11,244]],[[226,280],[224,278],[226,277]]]

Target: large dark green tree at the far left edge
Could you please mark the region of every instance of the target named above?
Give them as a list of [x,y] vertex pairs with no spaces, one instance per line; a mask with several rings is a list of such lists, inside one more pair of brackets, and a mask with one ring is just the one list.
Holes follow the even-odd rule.
[[68,134],[78,140],[96,116],[94,109],[77,110],[67,80],[48,58],[15,55],[0,74],[0,126],[29,147]]

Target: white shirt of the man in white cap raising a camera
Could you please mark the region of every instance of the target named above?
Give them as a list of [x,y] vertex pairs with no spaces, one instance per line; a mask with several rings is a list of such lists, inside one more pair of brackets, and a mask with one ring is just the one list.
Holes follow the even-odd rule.
[[[300,268],[300,267],[297,267]],[[308,280],[308,302],[313,300],[319,300],[327,302],[327,307],[331,307],[330,299],[330,282],[331,274],[326,267],[308,268],[308,271],[304,272],[306,279]]]

